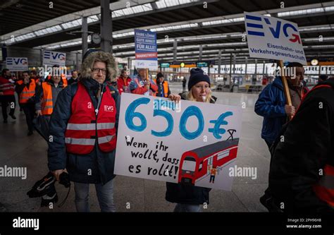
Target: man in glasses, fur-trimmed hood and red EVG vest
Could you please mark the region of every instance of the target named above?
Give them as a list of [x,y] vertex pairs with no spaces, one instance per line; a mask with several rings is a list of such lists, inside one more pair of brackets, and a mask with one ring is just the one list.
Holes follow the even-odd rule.
[[109,85],[116,78],[112,54],[89,50],[81,76],[58,95],[49,123],[48,166],[59,180],[67,171],[74,182],[75,207],[89,212],[89,184],[94,184],[102,212],[114,212],[113,167],[120,98]]

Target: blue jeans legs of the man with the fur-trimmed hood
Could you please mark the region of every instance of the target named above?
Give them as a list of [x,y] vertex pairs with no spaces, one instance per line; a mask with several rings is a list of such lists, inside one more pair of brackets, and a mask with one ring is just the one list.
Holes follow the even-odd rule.
[[[102,185],[96,183],[97,199],[101,212],[116,212],[116,206],[113,204],[113,180]],[[89,183],[74,183],[75,208],[77,212],[89,212]]]

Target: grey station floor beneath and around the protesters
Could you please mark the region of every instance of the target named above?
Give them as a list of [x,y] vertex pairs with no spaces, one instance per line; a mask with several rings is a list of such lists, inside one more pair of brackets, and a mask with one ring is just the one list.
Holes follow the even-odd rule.
[[[172,92],[182,90],[181,83],[170,85]],[[266,212],[259,203],[268,186],[270,154],[261,139],[262,118],[254,113],[258,94],[214,92],[218,104],[241,106],[242,133],[237,152],[237,167],[256,167],[257,178],[235,177],[232,191],[212,190],[210,204],[204,212]],[[62,207],[67,188],[56,183],[58,203],[53,209],[40,207],[41,198],[28,198],[26,193],[35,181],[47,174],[47,143],[34,133],[27,136],[25,115],[16,109],[17,119],[8,117],[8,123],[0,118],[0,167],[27,167],[27,179],[0,177],[0,203],[8,212],[75,212],[74,187]],[[171,212],[174,204],[165,200],[166,183],[116,176],[114,202],[118,212]],[[99,204],[93,185],[90,186],[89,205],[92,212],[99,212]],[[129,204],[130,203],[130,204]],[[130,205],[130,208],[129,208]]]

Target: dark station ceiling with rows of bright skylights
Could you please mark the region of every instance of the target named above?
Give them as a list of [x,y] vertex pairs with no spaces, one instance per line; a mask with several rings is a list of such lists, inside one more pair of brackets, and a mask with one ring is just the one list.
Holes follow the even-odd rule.
[[[94,16],[88,26],[89,32],[100,32],[99,0],[56,0],[52,1],[53,8],[49,8],[49,2],[9,0],[0,4],[1,40],[8,40],[13,34],[20,40],[11,42],[10,46],[79,52],[81,36],[75,31],[80,31],[81,25],[68,27],[66,20],[78,20],[89,13]],[[178,40],[178,61],[198,60],[199,45],[203,47],[202,60],[218,59],[221,49],[223,63],[229,61],[230,53],[236,54],[236,61],[245,61],[248,50],[247,42],[242,40],[244,11],[270,14],[297,23],[308,60],[333,61],[334,58],[334,1],[111,1],[111,11],[113,53],[122,58],[135,56],[133,30],[142,28],[157,32],[159,61],[171,61],[175,38]],[[44,34],[36,30],[42,29],[43,24],[52,27],[59,18],[60,29]],[[23,32],[28,36],[32,33],[33,37],[20,38]],[[99,45],[91,42],[89,47]]]

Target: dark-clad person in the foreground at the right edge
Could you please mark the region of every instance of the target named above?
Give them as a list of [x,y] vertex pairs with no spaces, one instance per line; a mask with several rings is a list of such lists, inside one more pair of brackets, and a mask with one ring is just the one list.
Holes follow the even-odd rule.
[[334,80],[316,85],[274,143],[269,188],[284,212],[333,212]]

